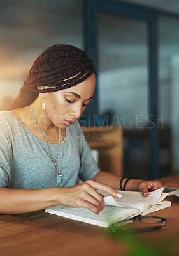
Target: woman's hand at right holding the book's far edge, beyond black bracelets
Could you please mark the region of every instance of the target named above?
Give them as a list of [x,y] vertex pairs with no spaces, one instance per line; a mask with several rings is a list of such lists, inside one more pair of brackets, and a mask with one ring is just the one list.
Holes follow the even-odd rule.
[[140,180],[137,183],[137,190],[141,191],[142,195],[145,196],[145,197],[147,197],[149,195],[148,192],[154,191],[154,190],[159,189],[159,188],[164,188],[164,186],[162,186],[161,182],[159,182],[159,181]]

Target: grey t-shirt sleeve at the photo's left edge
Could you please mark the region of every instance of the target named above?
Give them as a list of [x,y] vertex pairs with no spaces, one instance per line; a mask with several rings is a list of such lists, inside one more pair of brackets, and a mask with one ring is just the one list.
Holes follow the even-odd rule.
[[[3,127],[2,127],[3,126]],[[10,166],[11,166],[11,143],[8,136],[8,127],[4,129],[2,120],[0,122],[0,187],[8,187],[10,184]]]

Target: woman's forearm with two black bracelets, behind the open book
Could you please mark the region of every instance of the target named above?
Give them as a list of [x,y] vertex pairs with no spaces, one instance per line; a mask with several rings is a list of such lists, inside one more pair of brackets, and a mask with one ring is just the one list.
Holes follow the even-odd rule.
[[[121,179],[122,179],[122,177],[119,175],[100,171],[99,173],[97,173],[96,176],[94,176],[94,178],[92,180],[94,180],[96,182],[101,182],[103,184],[107,184],[107,185],[111,186],[111,188],[121,190],[120,189],[120,180]],[[127,180],[127,178],[125,178],[122,181],[122,188],[124,186],[125,180]],[[137,184],[139,181],[140,180],[137,180],[137,179],[129,180],[129,182],[127,182],[127,185],[125,186],[125,190],[137,191],[138,190]]]

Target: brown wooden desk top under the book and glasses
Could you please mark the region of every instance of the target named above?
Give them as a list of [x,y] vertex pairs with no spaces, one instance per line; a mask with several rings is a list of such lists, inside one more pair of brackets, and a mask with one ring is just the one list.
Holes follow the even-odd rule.
[[[161,180],[165,186],[178,188],[179,175]],[[172,207],[151,214],[166,218],[166,227],[138,235],[138,239],[142,239],[147,244],[158,243],[166,236],[179,241],[179,198],[171,196],[168,200],[171,200]],[[119,239],[113,239],[106,228],[68,220],[44,211],[0,215],[2,256],[124,256],[125,250],[126,244]],[[173,250],[176,255],[179,253],[178,244]]]

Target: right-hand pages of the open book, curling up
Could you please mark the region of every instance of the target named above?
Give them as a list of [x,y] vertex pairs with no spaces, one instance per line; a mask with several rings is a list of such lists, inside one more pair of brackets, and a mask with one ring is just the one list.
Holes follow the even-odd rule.
[[168,193],[162,193],[163,190],[164,188],[161,188],[149,192],[149,196],[147,197],[143,197],[141,192],[136,191],[118,191],[122,194],[122,198],[115,198],[103,192],[102,195],[108,195],[107,197],[104,197],[104,202],[106,205],[119,205],[123,207],[140,209],[142,211],[143,207],[147,204],[155,204],[157,202],[161,202],[161,200],[163,200],[168,195]]

